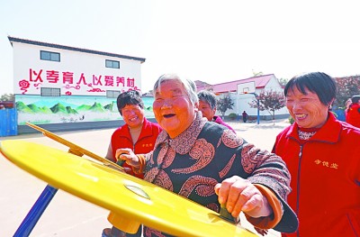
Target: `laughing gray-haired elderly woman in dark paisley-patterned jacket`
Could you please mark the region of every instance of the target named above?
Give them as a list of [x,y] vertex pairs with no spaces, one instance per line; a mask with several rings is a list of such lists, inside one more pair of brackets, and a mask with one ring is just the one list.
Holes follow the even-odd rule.
[[[244,212],[257,228],[294,232],[298,221],[286,204],[290,175],[284,161],[257,149],[227,127],[202,119],[193,81],[175,74],[157,79],[153,110],[164,129],[154,150],[117,150],[145,180],[215,212]],[[184,226],[186,228],[186,226]],[[144,226],[144,237],[169,236]]]

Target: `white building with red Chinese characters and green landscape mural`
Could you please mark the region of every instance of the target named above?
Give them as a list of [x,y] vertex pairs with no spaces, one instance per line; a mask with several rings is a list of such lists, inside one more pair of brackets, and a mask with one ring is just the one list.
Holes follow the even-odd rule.
[[[123,91],[141,90],[145,59],[8,39],[14,50],[18,125],[119,120],[117,96]],[[147,116],[153,117],[152,111]]]

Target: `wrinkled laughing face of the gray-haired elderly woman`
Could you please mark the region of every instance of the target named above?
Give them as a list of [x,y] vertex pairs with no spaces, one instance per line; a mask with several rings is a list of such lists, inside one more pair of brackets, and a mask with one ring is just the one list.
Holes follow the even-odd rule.
[[155,91],[153,110],[157,123],[175,138],[184,132],[195,116],[195,108],[178,80],[163,81]]

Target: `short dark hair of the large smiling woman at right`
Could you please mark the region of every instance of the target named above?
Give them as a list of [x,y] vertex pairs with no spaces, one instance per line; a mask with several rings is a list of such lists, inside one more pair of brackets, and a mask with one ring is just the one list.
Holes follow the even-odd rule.
[[334,78],[323,72],[311,72],[295,76],[286,84],[284,95],[296,87],[306,95],[306,89],[318,95],[323,105],[330,105],[337,96],[337,84]]

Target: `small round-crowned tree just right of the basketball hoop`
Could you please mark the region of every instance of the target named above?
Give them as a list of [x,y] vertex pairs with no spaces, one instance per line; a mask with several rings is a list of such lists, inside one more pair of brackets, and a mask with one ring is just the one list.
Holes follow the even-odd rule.
[[272,115],[275,124],[275,111],[285,106],[285,96],[283,92],[275,90],[263,90],[256,99],[248,103],[250,107],[257,108],[257,100],[260,111],[267,111]]

